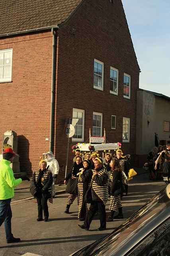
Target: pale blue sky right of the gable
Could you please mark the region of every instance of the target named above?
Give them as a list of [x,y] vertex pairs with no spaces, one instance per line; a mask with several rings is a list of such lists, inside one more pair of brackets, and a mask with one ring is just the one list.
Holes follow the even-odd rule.
[[138,64],[139,88],[170,97],[170,0],[122,0]]

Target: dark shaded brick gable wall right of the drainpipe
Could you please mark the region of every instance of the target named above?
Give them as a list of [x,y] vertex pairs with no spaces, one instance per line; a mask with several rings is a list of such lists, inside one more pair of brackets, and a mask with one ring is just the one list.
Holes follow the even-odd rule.
[[[94,59],[104,62],[104,91],[93,88]],[[119,95],[109,92],[110,66],[119,70]],[[123,73],[131,75],[131,99],[123,98]],[[131,119],[130,143],[123,143],[125,154],[135,154],[136,101],[139,67],[120,0],[113,4],[87,0],[78,8],[67,26],[59,29],[57,76],[56,155],[66,159],[66,118],[72,108],[85,110],[85,141],[92,129],[93,112],[103,113],[103,128],[109,142],[122,142],[123,117]],[[63,108],[64,106],[64,108]],[[111,130],[111,115],[116,115],[116,130]],[[71,145],[75,144],[70,143]],[[71,149],[70,149],[71,151]],[[69,163],[73,158],[70,154]],[[60,174],[64,178],[64,173]]]

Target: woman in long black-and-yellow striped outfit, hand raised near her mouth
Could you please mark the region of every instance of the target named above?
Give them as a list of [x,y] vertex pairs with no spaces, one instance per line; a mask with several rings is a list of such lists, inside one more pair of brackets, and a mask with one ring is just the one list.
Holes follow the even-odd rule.
[[78,177],[78,219],[85,220],[86,213],[88,212],[87,204],[84,202],[84,194],[92,180],[93,172],[90,169],[90,161],[83,160],[84,168],[80,168]]

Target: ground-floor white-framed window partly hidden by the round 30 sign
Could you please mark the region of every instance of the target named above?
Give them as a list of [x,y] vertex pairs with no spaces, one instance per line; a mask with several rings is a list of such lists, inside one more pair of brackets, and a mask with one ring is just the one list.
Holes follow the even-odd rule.
[[84,110],[73,108],[72,118],[78,119],[72,141],[84,141]]

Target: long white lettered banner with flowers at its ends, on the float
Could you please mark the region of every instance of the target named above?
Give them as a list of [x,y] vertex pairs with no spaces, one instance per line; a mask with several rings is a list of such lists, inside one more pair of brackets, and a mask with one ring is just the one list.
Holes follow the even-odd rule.
[[81,151],[90,151],[89,146],[93,146],[94,151],[119,149],[119,145],[117,143],[105,143],[105,144],[79,143],[78,144],[78,147],[80,148]]

